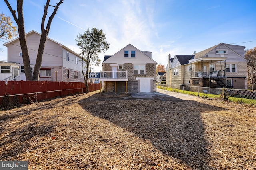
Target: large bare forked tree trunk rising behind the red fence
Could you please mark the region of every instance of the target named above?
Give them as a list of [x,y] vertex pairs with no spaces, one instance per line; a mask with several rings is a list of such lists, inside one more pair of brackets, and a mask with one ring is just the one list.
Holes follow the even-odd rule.
[[[23,0],[17,0],[17,14],[16,16],[16,11],[12,9],[10,6],[8,0],[4,0],[6,5],[8,6],[10,12],[12,13],[12,16],[14,20],[17,23],[18,26],[18,32],[19,32],[19,41],[20,41],[20,47],[22,51],[22,58],[23,58],[23,63],[24,63],[24,70],[25,70],[25,76],[26,80],[39,80],[39,73],[40,73],[40,68],[42,65],[42,58],[43,58],[43,53],[44,53],[44,46],[46,42],[46,38],[49,34],[50,31],[50,26],[52,23],[52,20],[57,13],[57,10],[60,6],[60,4],[63,3],[64,0],[60,0],[56,6],[50,5],[50,0],[46,1],[46,5],[44,6],[44,14],[42,16],[42,22],[41,22],[41,39],[38,47],[38,53],[37,53],[37,58],[36,58],[36,64],[34,68],[34,72],[32,75],[32,72],[30,70],[30,59],[29,59],[29,53],[28,53],[28,45],[26,41],[26,34],[25,34],[25,26],[24,26],[24,17],[23,17]],[[54,7],[54,10],[47,22],[46,28],[44,28],[45,25],[45,20],[46,20],[46,15],[48,13],[48,7]]]

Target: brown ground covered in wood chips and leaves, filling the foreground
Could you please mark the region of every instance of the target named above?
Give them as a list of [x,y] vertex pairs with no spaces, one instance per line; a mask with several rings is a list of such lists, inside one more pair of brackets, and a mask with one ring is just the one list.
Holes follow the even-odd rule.
[[256,169],[255,106],[124,96],[96,91],[0,111],[0,160],[29,170]]

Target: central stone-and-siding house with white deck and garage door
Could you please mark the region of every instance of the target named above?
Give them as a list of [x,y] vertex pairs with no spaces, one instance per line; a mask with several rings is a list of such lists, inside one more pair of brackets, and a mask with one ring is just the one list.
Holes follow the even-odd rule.
[[[100,82],[105,92],[156,92],[156,61],[152,52],[129,44],[112,56],[105,56]],[[101,83],[100,83],[101,84]]]

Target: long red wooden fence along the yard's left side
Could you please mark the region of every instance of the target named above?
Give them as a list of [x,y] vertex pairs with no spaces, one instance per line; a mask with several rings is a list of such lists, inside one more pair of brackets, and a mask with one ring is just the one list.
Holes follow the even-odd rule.
[[[100,89],[100,84],[89,83],[88,86],[90,92]],[[17,106],[15,104],[80,94],[85,91],[84,83],[80,82],[8,81],[8,84],[5,84],[5,81],[0,81],[0,96],[4,96],[0,97],[0,107]]]

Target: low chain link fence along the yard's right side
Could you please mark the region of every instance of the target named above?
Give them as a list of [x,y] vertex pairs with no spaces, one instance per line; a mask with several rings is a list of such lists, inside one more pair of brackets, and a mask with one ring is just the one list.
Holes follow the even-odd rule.
[[[163,89],[173,88],[179,90],[185,90],[190,92],[206,93],[206,94],[222,94],[222,88],[209,88],[209,87],[198,87],[198,86],[167,86],[161,84]],[[235,98],[245,98],[256,100],[256,90],[243,90],[243,89],[226,89],[227,95]]]

